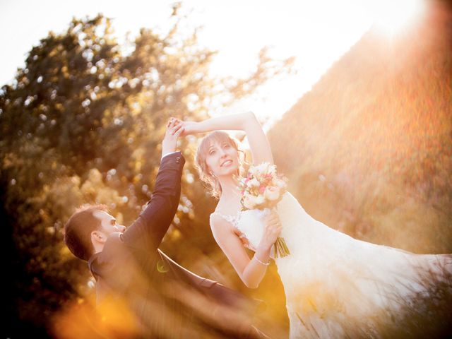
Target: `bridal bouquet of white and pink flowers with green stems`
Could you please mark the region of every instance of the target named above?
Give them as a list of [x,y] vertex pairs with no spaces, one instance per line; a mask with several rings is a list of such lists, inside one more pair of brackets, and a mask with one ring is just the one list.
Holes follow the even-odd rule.
[[[263,210],[275,208],[283,198],[287,184],[285,178],[276,173],[275,165],[263,162],[261,165],[249,167],[246,177],[239,179],[239,187],[242,193],[242,210]],[[284,238],[278,237],[275,242],[275,257],[289,254]]]

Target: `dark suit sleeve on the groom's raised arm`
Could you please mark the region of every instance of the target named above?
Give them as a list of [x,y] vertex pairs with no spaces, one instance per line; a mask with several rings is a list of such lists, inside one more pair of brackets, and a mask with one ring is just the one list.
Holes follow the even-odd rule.
[[138,219],[122,234],[124,244],[145,251],[155,251],[160,245],[179,205],[184,163],[180,152],[163,157],[152,198]]

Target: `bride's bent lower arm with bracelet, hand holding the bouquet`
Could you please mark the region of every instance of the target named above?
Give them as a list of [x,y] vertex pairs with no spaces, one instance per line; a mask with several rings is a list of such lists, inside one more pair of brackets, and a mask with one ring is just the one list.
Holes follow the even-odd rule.
[[266,274],[266,263],[270,260],[270,250],[280,234],[281,226],[277,215],[266,218],[266,229],[256,253],[250,259],[237,234],[231,230],[230,223],[219,216],[210,219],[213,237],[232,267],[246,287],[257,288]]

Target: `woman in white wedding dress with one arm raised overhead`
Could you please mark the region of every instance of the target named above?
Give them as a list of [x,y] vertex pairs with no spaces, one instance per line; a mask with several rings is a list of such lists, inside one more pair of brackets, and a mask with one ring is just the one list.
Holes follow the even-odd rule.
[[[379,338],[381,326],[394,326],[404,305],[428,293],[429,277],[450,283],[451,254],[412,254],[353,239],[312,218],[288,192],[278,203],[278,213],[241,211],[237,177],[243,156],[237,141],[218,130],[245,131],[253,165],[273,164],[254,114],[181,123],[185,134],[213,131],[196,153],[200,177],[219,199],[210,215],[213,237],[247,287],[258,287],[270,258],[275,261],[286,295],[290,338]],[[273,257],[278,237],[285,239],[290,255]],[[252,258],[244,247],[254,251]]]

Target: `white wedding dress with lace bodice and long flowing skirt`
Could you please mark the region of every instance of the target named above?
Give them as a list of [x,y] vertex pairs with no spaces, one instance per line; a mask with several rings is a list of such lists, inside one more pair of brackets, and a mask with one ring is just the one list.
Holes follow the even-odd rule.
[[[221,215],[254,250],[263,234],[263,210]],[[360,326],[378,338],[376,321],[425,290],[428,274],[452,271],[452,255],[412,254],[363,242],[312,218],[286,193],[278,203],[290,255],[275,258],[284,285],[290,338],[353,337]],[[272,251],[273,253],[273,251]],[[427,274],[428,273],[428,274]],[[385,313],[386,312],[386,313]]]

